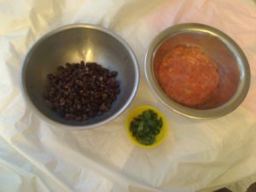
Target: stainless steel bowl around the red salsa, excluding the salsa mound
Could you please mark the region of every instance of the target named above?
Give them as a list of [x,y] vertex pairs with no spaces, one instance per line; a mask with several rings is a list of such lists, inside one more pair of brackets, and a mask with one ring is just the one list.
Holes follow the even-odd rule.
[[[166,52],[178,44],[200,47],[218,63],[218,90],[211,100],[203,103],[199,108],[185,107],[173,101],[160,88],[154,74],[156,62],[159,63]],[[177,113],[196,119],[216,118],[230,113],[247,96],[250,84],[250,68],[241,48],[224,32],[195,23],[171,26],[160,32],[150,44],[144,71],[150,89],[160,102]]]

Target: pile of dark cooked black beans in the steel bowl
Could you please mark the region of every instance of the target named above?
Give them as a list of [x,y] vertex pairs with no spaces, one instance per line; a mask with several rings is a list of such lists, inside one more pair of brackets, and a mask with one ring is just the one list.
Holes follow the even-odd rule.
[[117,72],[94,62],[67,63],[49,73],[44,98],[65,119],[85,120],[107,112],[119,95]]

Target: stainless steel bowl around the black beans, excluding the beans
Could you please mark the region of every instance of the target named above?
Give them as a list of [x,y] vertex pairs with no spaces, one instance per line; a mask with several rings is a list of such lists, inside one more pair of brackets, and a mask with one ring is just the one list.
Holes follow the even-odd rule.
[[[42,95],[48,73],[66,62],[79,61],[94,61],[117,71],[121,87],[108,113],[81,122],[59,116],[47,107]],[[117,117],[135,96],[138,82],[137,59],[130,46],[108,29],[91,25],[64,26],[44,35],[29,50],[20,72],[21,90],[39,116],[72,129],[89,129]]]

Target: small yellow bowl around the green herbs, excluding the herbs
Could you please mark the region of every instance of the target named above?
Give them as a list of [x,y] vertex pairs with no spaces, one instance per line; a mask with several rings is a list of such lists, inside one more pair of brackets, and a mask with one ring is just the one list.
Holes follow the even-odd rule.
[[[137,117],[139,114],[143,113],[143,111],[146,111],[148,109],[153,110],[154,113],[157,113],[158,117],[161,117],[163,119],[163,127],[160,133],[156,136],[155,143],[153,143],[152,145],[143,145],[142,143],[137,142],[137,139],[132,136],[130,131],[130,124],[133,118]],[[131,139],[131,142],[135,143],[138,147],[141,147],[141,148],[155,148],[156,146],[160,145],[160,143],[162,143],[165,140],[167,136],[167,131],[168,131],[166,117],[163,115],[163,113],[160,112],[160,110],[152,106],[139,106],[134,110],[132,110],[128,116],[128,119],[126,120],[125,128],[126,128],[128,137]]]

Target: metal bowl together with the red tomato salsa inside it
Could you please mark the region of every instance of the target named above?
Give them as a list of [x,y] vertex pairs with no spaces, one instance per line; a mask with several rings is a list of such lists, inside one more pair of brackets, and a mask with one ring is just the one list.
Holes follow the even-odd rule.
[[250,85],[250,67],[239,45],[224,32],[196,23],[160,32],[148,48],[144,71],[160,102],[196,119],[232,112]]

